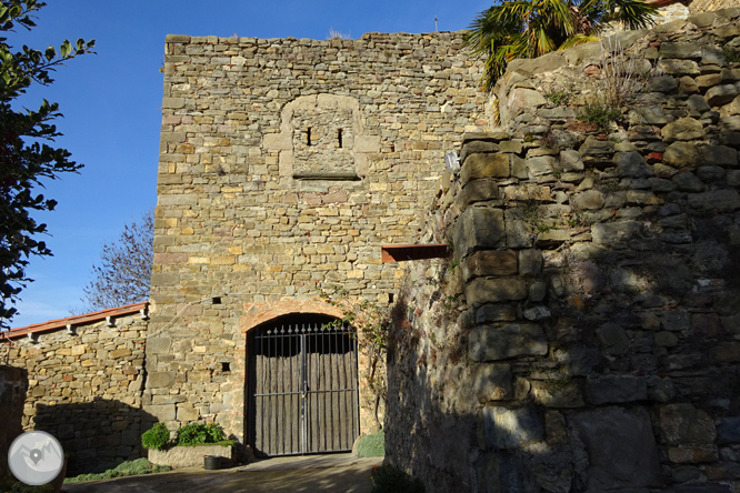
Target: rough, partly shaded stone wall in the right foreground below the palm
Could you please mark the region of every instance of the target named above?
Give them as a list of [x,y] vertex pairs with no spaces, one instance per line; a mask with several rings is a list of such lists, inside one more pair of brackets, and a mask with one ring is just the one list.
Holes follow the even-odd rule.
[[606,130],[598,44],[501,81],[393,309],[387,459],[428,492],[740,490],[739,20],[624,34],[662,72]]

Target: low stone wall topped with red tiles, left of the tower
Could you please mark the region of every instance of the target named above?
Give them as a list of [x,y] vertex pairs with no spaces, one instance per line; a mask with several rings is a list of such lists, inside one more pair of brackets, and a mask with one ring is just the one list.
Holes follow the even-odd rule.
[[71,453],[72,474],[141,456],[142,422],[151,422],[141,410],[144,309],[140,303],[2,334],[0,361],[28,375],[23,430],[57,437]]

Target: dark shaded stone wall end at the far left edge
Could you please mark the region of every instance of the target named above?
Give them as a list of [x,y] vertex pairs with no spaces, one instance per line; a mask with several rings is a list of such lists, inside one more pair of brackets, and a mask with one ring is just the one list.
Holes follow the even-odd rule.
[[[0,360],[4,361],[4,360]],[[0,365],[0,480],[10,475],[8,451],[22,432],[28,375],[20,368]]]

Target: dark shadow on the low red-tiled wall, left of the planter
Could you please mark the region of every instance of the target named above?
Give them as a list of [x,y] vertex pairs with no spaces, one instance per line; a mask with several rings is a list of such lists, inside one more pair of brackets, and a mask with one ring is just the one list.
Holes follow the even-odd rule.
[[146,456],[141,433],[154,416],[119,401],[37,404],[32,427],[53,435],[69,454],[68,475],[102,472]]

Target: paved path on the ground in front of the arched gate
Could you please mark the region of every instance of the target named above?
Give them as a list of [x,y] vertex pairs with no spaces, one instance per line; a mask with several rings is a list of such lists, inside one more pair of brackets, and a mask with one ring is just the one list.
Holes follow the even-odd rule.
[[159,474],[66,484],[68,493],[370,493],[370,471],[381,457],[351,454],[276,457],[221,471],[180,469]]

